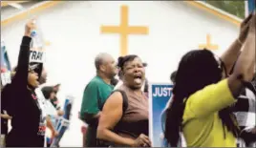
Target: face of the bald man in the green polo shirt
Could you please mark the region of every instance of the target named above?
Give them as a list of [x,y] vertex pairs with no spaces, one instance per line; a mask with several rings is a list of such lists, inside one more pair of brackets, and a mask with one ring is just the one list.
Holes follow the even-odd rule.
[[111,55],[104,57],[101,70],[109,78],[113,78],[117,74],[117,63]]

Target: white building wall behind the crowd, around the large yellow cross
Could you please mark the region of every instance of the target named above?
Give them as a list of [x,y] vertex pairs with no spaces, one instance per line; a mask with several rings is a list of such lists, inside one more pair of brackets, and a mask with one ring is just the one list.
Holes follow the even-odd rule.
[[[111,53],[117,58],[119,36],[101,34],[101,25],[118,25],[121,5],[129,6],[129,24],[147,26],[148,35],[129,35],[129,53],[136,53],[148,63],[146,75],[151,82],[169,82],[169,75],[177,69],[181,55],[197,49],[206,42],[206,33],[223,53],[237,37],[238,28],[206,11],[184,2],[116,1],[65,2],[41,12],[40,25],[47,48],[46,68],[49,83],[61,82],[59,97],[75,95],[75,108],[70,130],[63,137],[62,146],[81,146],[81,122],[77,119],[85,85],[95,75],[94,57],[97,53]],[[17,62],[24,21],[1,28],[12,66]]]

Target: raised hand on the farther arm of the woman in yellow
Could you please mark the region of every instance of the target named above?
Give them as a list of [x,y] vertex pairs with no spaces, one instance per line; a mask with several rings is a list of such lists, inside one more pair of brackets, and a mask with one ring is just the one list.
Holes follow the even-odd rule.
[[238,40],[239,42],[241,42],[241,44],[245,43],[245,39],[247,37],[247,34],[249,32],[249,27],[250,27],[250,20],[252,19],[253,14],[250,13],[245,20],[242,22],[241,26],[240,26],[240,33],[239,33],[239,37]]

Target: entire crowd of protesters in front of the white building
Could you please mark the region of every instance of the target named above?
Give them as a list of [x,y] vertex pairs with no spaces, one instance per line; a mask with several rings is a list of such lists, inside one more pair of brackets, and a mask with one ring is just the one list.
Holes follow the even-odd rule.
[[[256,145],[255,120],[249,116],[256,112],[255,19],[255,13],[245,18],[221,57],[207,49],[181,57],[170,76],[173,96],[161,116],[166,147],[182,146],[181,137],[188,147]],[[47,73],[43,63],[30,62],[33,29],[33,21],[28,22],[11,83],[1,87],[1,136],[6,136],[7,147],[44,147],[46,127],[52,132],[50,139],[58,135],[36,90],[51,101],[56,116],[64,114],[56,97],[60,84],[40,88]],[[88,125],[83,146],[151,147],[147,64],[136,54],[120,56],[116,62],[111,54],[99,53],[95,66],[96,76],[84,89],[79,112]]]

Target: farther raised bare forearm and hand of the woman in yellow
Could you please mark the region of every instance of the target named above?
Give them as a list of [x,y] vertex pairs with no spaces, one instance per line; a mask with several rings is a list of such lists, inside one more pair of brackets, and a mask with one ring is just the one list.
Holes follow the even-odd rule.
[[228,50],[221,56],[221,59],[224,62],[224,66],[226,68],[226,74],[229,74],[235,61],[237,60],[239,54],[241,53],[241,48],[245,43],[245,39],[247,37],[249,31],[249,22],[251,20],[252,13],[249,14],[240,27],[240,34],[238,38],[233,41]]

